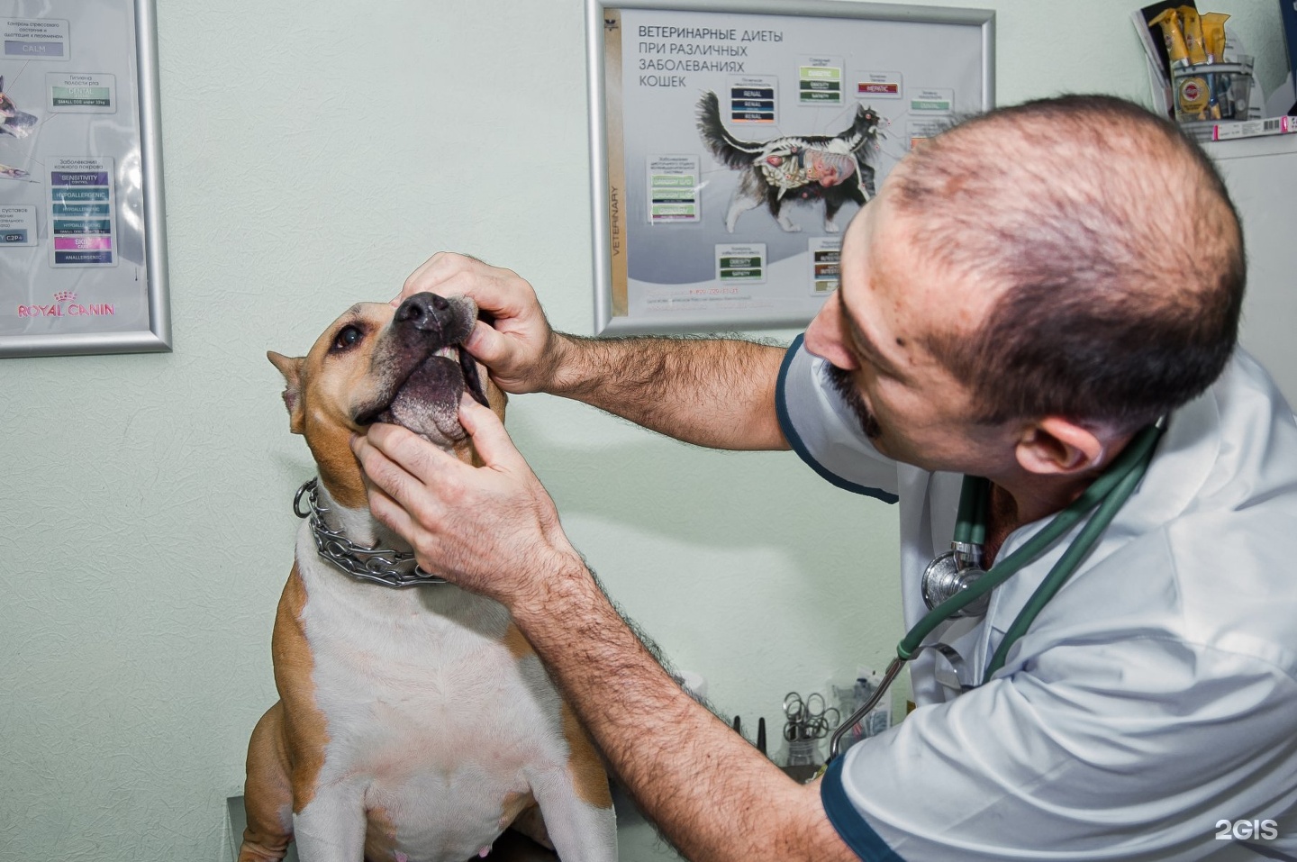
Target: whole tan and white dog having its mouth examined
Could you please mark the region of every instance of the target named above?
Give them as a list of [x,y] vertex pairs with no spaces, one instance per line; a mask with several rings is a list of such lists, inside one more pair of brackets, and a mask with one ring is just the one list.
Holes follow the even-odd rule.
[[[512,827],[564,862],[616,859],[594,745],[503,605],[437,583],[368,509],[353,433],[397,423],[480,465],[464,391],[505,394],[459,345],[477,310],[362,303],[305,356],[268,353],[319,469],[272,636],[280,700],[248,745],[240,862],[463,862]],[[377,581],[377,583],[372,582]],[[407,588],[393,588],[407,587]]]

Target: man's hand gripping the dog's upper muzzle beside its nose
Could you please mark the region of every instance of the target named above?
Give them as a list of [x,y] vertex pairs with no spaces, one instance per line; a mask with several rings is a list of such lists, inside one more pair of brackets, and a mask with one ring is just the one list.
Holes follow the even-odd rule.
[[440,251],[406,279],[401,296],[392,302],[398,305],[424,290],[470,297],[494,316],[492,324],[477,321],[464,347],[490,368],[495,385],[507,393],[550,389],[567,342],[554,334],[536,290],[516,272]]

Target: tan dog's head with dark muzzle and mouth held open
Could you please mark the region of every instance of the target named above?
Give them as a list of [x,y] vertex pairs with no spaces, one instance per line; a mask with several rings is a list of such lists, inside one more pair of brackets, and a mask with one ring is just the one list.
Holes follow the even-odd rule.
[[349,442],[376,421],[403,425],[464,461],[475,460],[459,424],[460,397],[468,391],[505,416],[505,393],[460,349],[476,320],[477,306],[467,297],[419,293],[398,309],[351,306],[305,356],[266,354],[284,375],[289,428],[306,437],[339,503],[364,503]]

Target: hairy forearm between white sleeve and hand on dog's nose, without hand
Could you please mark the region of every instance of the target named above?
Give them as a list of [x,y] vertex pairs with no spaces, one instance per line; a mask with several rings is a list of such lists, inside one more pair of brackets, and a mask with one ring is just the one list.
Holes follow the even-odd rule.
[[715,448],[787,448],[774,412],[783,347],[737,338],[556,334],[547,391]]

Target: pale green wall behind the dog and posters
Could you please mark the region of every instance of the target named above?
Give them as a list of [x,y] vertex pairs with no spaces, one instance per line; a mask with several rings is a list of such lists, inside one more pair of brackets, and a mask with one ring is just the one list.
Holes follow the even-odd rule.
[[[1135,3],[988,4],[999,100],[1144,100]],[[1278,49],[1275,3],[1217,8]],[[589,332],[582,27],[577,0],[158,3],[175,351],[0,360],[0,861],[227,858],[311,469],[263,354],[438,249],[523,272]],[[612,595],[724,709],[773,717],[885,661],[890,507],[547,397],[510,428]]]

